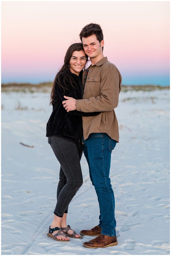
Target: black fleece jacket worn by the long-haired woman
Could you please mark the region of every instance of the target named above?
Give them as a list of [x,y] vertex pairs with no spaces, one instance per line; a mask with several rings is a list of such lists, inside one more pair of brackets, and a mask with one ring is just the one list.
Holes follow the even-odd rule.
[[83,86],[80,77],[82,77],[82,72],[80,72],[80,77],[70,71],[62,71],[59,75],[60,83],[64,84],[65,76],[68,74],[74,78],[71,86],[69,82],[67,83],[67,89],[64,90],[59,87],[59,81],[55,81],[55,92],[54,92],[54,102],[52,104],[53,110],[52,114],[46,125],[46,137],[48,136],[60,136],[74,142],[80,142],[82,137],[82,118],[81,116],[95,116],[101,112],[89,112],[84,113],[82,111],[69,111],[67,112],[63,107],[62,102],[66,100],[65,96],[72,97],[76,100],[82,99],[83,96]]

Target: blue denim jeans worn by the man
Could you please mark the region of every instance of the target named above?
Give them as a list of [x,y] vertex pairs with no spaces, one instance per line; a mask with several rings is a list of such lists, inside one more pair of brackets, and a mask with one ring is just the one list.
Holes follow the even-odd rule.
[[109,178],[111,153],[116,141],[107,133],[91,133],[83,140],[83,152],[89,165],[91,182],[95,188],[100,207],[98,226],[101,234],[116,236],[115,198]]

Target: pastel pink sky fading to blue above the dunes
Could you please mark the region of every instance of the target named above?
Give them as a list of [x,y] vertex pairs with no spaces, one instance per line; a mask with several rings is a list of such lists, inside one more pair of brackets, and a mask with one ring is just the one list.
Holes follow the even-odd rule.
[[52,81],[88,23],[123,84],[169,85],[169,2],[2,2],[2,82]]

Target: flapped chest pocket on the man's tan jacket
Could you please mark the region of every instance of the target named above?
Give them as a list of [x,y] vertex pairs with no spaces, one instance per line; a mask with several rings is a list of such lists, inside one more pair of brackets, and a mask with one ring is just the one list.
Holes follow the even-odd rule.
[[100,77],[89,77],[86,81],[87,96],[96,97],[100,95]]

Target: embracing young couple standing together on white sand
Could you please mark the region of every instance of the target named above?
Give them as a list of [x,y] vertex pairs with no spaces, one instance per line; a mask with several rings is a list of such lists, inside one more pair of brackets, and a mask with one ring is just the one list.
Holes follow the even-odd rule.
[[[60,171],[57,203],[47,236],[59,242],[96,236],[83,246],[104,248],[117,245],[115,198],[109,170],[112,150],[119,142],[114,108],[118,105],[121,75],[103,55],[100,25],[86,25],[79,36],[82,43],[68,48],[51,91],[53,111],[46,136],[60,163]],[[88,57],[91,65],[86,68]],[[96,227],[77,234],[67,225],[66,219],[68,205],[83,183],[80,166],[83,152],[97,194],[100,216]]]

